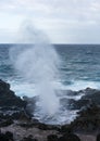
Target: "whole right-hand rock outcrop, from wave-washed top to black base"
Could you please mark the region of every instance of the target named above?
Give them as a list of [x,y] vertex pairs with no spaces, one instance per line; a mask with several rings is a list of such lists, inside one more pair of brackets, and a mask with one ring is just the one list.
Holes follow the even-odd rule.
[[68,105],[67,99],[61,99],[62,105],[66,106],[65,108],[80,110],[74,121],[61,127],[61,132],[67,131],[67,127],[79,132],[100,130],[100,90],[87,88],[77,91],[77,95],[79,95],[79,93],[84,93],[82,99],[77,101],[71,99]]

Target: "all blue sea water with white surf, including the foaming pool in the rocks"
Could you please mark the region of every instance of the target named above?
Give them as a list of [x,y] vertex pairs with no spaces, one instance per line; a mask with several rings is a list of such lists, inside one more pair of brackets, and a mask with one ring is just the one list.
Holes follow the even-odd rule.
[[[18,46],[20,44],[0,44],[0,79],[10,82],[11,89],[14,90],[17,95],[35,97],[37,95],[35,85],[27,81],[27,79],[15,69],[10,60],[11,48],[17,48]],[[28,44],[21,44],[21,47],[29,48]],[[100,44],[54,44],[53,48],[60,57],[60,77],[53,81],[57,90],[78,91],[87,87],[100,89]],[[41,69],[42,66],[40,70]],[[66,94],[61,92],[59,99],[79,100],[83,94],[84,93],[70,97],[67,92]],[[59,113],[51,118],[45,117],[43,111],[39,108],[34,113],[36,118],[48,124],[70,123],[76,115],[76,111],[71,111],[68,108],[62,110],[61,107]]]

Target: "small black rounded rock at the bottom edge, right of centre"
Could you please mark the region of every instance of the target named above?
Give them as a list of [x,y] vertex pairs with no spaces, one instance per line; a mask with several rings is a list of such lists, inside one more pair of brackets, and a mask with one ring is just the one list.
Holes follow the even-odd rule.
[[68,133],[60,137],[58,141],[80,141],[80,139],[74,133]]

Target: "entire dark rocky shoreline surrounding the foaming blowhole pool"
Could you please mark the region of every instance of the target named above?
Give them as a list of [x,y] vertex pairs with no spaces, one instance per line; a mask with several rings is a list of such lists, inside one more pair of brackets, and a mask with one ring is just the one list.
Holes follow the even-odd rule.
[[[87,88],[70,91],[73,95],[84,93],[80,100],[70,100],[68,108],[80,110],[68,125],[46,125],[32,118],[30,104],[10,90],[10,85],[0,80],[0,140],[1,141],[96,141],[100,140],[100,90]],[[65,106],[65,99],[61,100]],[[98,140],[98,141],[99,141]]]

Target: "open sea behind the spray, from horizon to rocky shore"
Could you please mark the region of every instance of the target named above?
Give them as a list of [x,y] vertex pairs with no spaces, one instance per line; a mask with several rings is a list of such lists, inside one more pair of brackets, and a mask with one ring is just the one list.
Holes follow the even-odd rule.
[[[0,44],[0,78],[10,82],[17,95],[33,97],[35,88],[13,68],[10,62],[9,50],[17,48],[17,46]],[[28,48],[28,46],[24,48]],[[61,60],[60,80],[54,82],[57,88],[82,90],[90,87],[100,89],[99,44],[55,44],[54,49]]]

